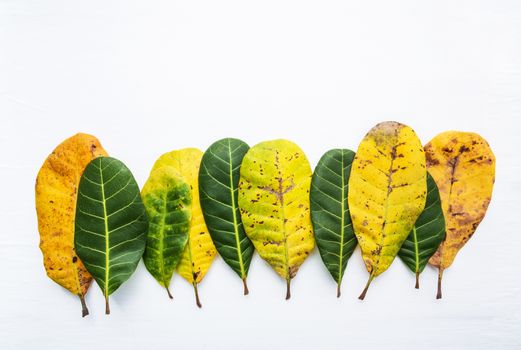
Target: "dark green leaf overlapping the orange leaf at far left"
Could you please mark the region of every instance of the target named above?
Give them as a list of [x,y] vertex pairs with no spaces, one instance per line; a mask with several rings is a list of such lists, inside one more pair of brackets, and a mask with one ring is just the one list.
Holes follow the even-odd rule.
[[96,158],[87,165],[78,188],[74,245],[105,296],[136,270],[145,250],[148,221],[139,187],[117,159]]

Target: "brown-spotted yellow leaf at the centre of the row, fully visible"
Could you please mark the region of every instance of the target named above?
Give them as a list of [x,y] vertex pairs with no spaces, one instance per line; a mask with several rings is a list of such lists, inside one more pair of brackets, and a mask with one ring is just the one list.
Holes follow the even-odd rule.
[[261,258],[290,281],[315,246],[309,214],[311,167],[286,140],[250,148],[241,165],[239,208],[246,235]]

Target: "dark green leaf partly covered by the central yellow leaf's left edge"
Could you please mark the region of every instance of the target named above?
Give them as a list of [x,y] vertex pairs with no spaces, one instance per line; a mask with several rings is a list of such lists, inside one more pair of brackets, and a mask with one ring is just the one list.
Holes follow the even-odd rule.
[[242,226],[238,200],[240,167],[249,147],[241,140],[226,138],[204,153],[199,171],[199,190],[204,219],[224,261],[239,275],[248,294],[246,277],[253,244]]

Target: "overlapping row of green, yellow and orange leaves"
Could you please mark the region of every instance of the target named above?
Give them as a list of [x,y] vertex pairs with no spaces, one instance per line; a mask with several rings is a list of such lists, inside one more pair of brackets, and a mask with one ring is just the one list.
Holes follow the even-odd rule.
[[[427,171],[428,169],[428,171]],[[479,135],[446,132],[425,147],[400,123],[372,128],[356,154],[326,152],[312,173],[286,140],[249,148],[223,139],[203,152],[162,155],[141,192],[130,170],[90,135],[48,157],[36,184],[40,247],[49,277],[84,296],[92,278],[106,299],[147,270],[168,295],[175,270],[194,287],[217,252],[243,280],[254,250],[290,282],[315,242],[338,284],[357,245],[371,281],[398,255],[416,275],[443,270],[483,219],[495,159]]]

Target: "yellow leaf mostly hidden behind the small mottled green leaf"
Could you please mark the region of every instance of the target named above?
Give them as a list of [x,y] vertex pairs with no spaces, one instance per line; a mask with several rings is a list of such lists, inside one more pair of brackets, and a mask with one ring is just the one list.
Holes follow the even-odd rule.
[[217,253],[206,228],[199,201],[199,167],[203,152],[185,148],[163,154],[152,171],[168,166],[174,168],[190,185],[192,191],[192,218],[188,243],[177,265],[177,272],[194,287],[197,306],[201,307],[197,284],[201,282]]

